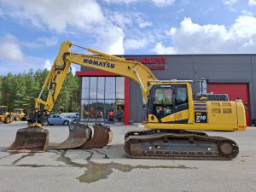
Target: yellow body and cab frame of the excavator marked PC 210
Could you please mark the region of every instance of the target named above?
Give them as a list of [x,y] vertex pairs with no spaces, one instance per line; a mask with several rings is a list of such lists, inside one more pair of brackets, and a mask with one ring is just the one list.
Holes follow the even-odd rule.
[[[244,131],[247,127],[245,108],[241,100],[193,101],[191,85],[186,82],[158,82],[152,85],[183,85],[187,88],[188,108],[157,118],[148,113],[145,128],[175,130]],[[149,90],[150,91],[150,90]],[[152,92],[152,91],[151,91]],[[150,101],[149,101],[150,102]]]

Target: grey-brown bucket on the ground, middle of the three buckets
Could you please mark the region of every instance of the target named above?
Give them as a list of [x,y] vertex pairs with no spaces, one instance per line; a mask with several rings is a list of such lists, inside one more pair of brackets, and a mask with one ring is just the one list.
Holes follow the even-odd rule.
[[57,144],[54,148],[79,148],[81,145],[90,140],[91,135],[91,129],[88,125],[73,122],[71,125],[69,125],[69,136],[67,137],[67,140],[61,144]]

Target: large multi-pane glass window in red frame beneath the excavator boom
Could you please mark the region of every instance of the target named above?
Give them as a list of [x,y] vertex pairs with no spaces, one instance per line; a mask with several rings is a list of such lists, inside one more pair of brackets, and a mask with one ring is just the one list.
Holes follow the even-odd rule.
[[85,122],[124,122],[125,78],[83,77],[81,120]]

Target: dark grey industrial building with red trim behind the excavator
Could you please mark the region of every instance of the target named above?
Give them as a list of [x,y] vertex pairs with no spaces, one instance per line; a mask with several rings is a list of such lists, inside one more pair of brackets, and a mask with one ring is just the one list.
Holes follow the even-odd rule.
[[[247,125],[255,124],[256,55],[121,55],[140,61],[158,79],[193,80],[194,95],[213,92],[241,99]],[[141,123],[143,96],[139,85],[113,73],[81,67],[81,121]]]

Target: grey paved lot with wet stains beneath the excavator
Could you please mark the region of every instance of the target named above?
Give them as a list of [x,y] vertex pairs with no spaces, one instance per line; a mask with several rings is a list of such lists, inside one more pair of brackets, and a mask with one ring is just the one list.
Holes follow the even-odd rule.
[[[208,132],[234,139],[235,160],[132,160],[123,150],[126,131],[113,125],[113,142],[99,150],[50,150],[9,154],[17,129],[26,122],[0,124],[0,191],[256,191],[256,129]],[[67,138],[65,126],[49,126],[49,142]]]

